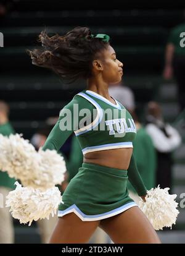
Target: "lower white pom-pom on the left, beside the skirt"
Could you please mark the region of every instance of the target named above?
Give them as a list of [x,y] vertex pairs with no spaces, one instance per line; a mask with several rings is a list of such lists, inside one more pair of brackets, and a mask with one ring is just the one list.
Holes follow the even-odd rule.
[[22,187],[19,182],[15,182],[15,190],[9,192],[6,200],[6,207],[10,207],[12,216],[20,220],[20,223],[28,223],[33,220],[49,219],[49,215],[56,214],[62,197],[57,187],[52,187],[46,191]]

